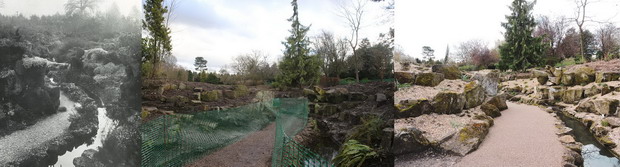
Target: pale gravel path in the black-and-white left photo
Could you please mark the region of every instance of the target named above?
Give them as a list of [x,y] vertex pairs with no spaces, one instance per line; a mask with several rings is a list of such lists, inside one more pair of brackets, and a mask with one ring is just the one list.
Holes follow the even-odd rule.
[[0,138],[0,164],[15,161],[33,148],[62,135],[71,124],[68,119],[71,113],[75,113],[75,108],[62,92],[60,106],[66,107],[67,111],[46,117],[24,130]]

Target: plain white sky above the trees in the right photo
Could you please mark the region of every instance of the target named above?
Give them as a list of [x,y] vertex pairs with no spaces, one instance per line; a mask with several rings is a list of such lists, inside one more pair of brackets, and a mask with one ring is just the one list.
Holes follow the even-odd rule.
[[[512,0],[396,0],[395,43],[406,54],[422,57],[422,47],[435,49],[435,59],[445,56],[446,46],[456,52],[461,42],[480,39],[494,46],[503,40],[501,27],[510,14]],[[614,22],[620,26],[620,1],[600,0],[587,8],[587,15],[599,21]],[[574,0],[539,0],[533,15],[574,17]],[[574,26],[574,22],[569,23]],[[586,25],[594,31],[598,24]]]

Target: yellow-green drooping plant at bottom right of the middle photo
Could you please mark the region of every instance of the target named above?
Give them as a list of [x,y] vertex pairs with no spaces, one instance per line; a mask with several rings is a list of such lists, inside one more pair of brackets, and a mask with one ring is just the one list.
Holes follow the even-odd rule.
[[377,152],[357,140],[347,140],[340,153],[332,160],[337,167],[360,167],[369,158],[377,157]]

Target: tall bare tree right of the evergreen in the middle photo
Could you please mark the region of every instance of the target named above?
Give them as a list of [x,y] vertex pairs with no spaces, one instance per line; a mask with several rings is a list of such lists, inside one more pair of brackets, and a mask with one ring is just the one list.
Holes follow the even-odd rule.
[[[353,55],[352,55],[353,58],[351,60],[362,61],[362,59],[359,58],[359,56],[357,56],[356,50],[357,50],[358,42],[359,42],[359,31],[362,28],[362,21],[363,21],[363,16],[365,13],[364,7],[366,6],[367,1],[366,0],[350,0],[349,2],[351,3],[348,4],[345,1],[341,1],[338,15],[340,15],[340,17],[345,19],[345,23],[347,24],[347,27],[349,27],[349,29],[351,30],[351,38],[349,38],[349,46],[351,47],[351,50],[353,51]],[[355,63],[358,64],[357,62]],[[357,82],[359,82],[359,72],[361,71],[361,68],[363,68],[363,65],[361,66],[362,67],[357,66],[357,65],[352,66],[354,67],[353,70],[355,72],[355,80]]]

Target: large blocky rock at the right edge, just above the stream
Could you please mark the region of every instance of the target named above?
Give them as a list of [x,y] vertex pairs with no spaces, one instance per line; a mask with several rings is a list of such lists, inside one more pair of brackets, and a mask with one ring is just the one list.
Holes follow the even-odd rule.
[[589,112],[604,115],[615,115],[618,111],[618,99],[597,98],[587,99],[578,104],[576,110],[579,112]]

